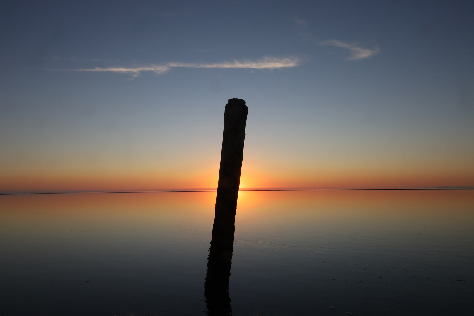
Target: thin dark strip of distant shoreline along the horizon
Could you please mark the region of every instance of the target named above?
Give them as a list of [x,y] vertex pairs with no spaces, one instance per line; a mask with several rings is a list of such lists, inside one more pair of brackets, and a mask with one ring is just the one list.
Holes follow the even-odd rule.
[[[474,188],[415,188],[415,189],[242,189],[239,192],[258,191],[406,191],[406,190],[474,190]],[[217,190],[163,190],[163,191],[98,191],[98,192],[35,192],[35,193],[0,193],[0,195],[31,194],[90,194],[90,193],[166,193],[166,192],[216,192]]]

